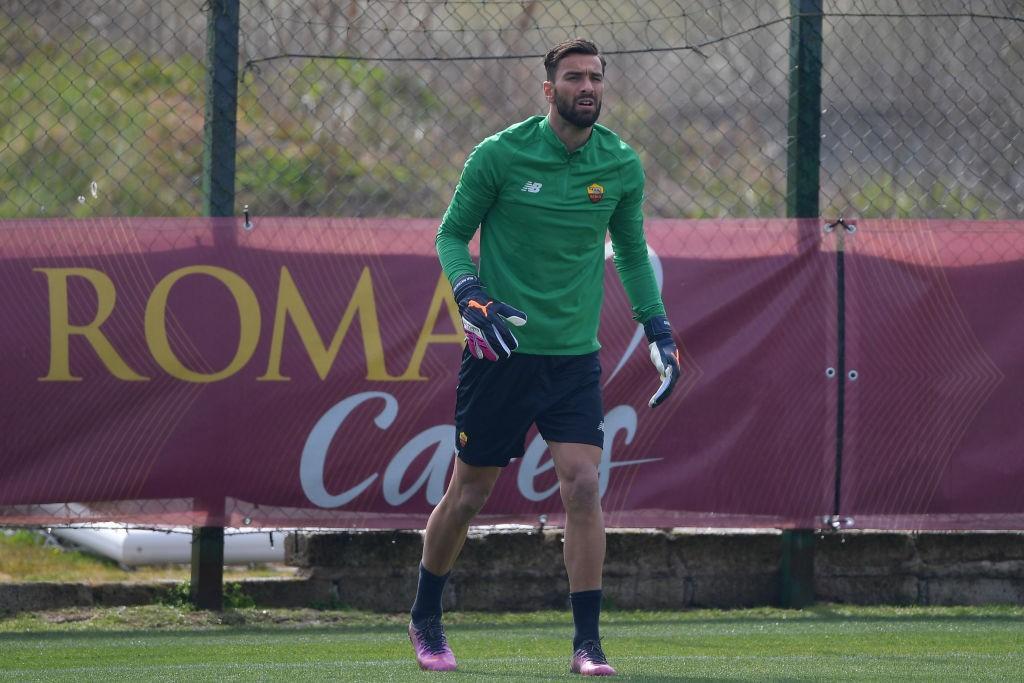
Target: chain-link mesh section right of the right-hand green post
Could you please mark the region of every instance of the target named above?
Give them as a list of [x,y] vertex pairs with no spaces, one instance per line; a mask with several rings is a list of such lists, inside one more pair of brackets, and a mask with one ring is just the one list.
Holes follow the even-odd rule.
[[822,212],[1024,216],[1024,4],[836,6],[848,11],[822,32]]

